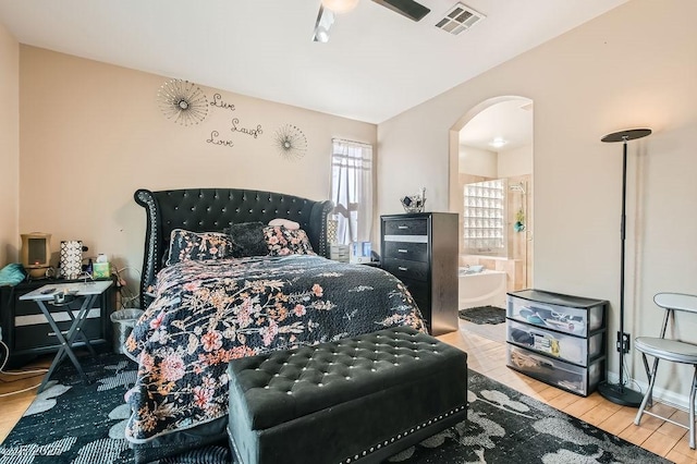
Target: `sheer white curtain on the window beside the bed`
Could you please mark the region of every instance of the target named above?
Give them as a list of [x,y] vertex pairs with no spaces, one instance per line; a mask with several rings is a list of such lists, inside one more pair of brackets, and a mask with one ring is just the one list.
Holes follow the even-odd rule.
[[340,244],[369,242],[372,229],[372,146],[334,138],[331,199]]

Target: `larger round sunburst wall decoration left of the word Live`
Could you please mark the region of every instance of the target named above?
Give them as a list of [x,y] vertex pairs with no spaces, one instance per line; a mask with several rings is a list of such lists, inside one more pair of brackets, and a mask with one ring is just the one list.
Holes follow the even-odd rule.
[[208,98],[194,83],[178,78],[162,84],[157,98],[167,119],[182,125],[198,124],[208,115]]

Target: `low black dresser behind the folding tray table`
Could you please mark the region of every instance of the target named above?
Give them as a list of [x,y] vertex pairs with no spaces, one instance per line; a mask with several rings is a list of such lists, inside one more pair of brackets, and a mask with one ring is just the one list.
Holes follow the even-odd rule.
[[[41,314],[38,305],[33,301],[20,301],[20,296],[29,293],[44,285],[53,283],[74,282],[62,279],[37,279],[24,281],[15,286],[0,286],[0,327],[2,327],[2,341],[10,349],[10,357],[7,368],[23,366],[32,358],[46,353],[58,352],[60,345],[58,339],[52,334],[46,317]],[[109,351],[111,349],[111,320],[109,316],[115,306],[115,288],[112,285],[97,300],[90,309],[87,320],[83,325],[83,332],[87,335],[90,344],[97,351]],[[77,298],[72,309],[77,314],[82,298]],[[53,306],[47,305],[52,312]],[[62,308],[60,309],[63,310]],[[56,321],[63,331],[71,326],[68,314],[57,313]],[[75,346],[83,343],[76,342]],[[0,361],[5,353],[0,353]]]

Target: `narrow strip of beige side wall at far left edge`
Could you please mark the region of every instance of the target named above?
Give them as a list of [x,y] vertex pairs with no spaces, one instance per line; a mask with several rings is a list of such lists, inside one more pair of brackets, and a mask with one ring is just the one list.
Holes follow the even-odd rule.
[[20,166],[20,45],[0,24],[0,267],[16,261]]

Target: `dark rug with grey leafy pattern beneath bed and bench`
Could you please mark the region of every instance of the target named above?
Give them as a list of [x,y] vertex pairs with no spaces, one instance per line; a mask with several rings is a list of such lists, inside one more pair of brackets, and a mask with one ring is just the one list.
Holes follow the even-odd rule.
[[[122,355],[85,359],[83,384],[70,363],[0,444],[0,464],[126,464],[123,394],[135,365]],[[403,464],[669,463],[632,443],[469,371],[468,420],[392,456]],[[224,443],[160,464],[230,463]]]

